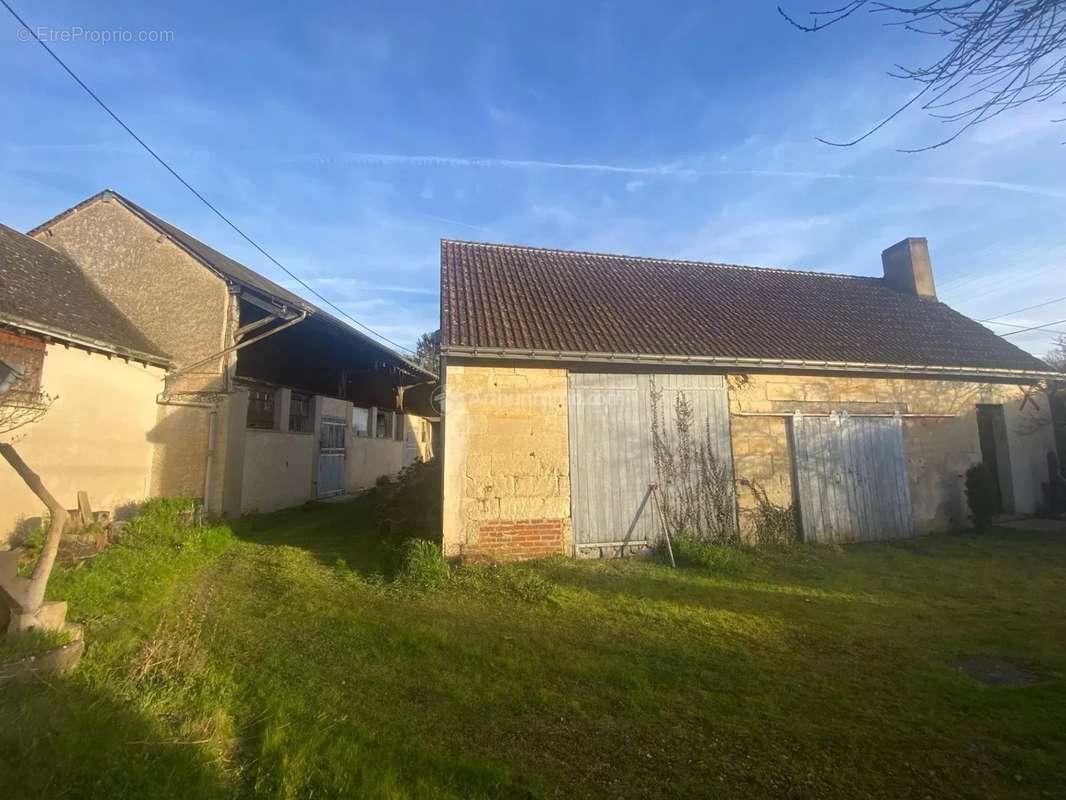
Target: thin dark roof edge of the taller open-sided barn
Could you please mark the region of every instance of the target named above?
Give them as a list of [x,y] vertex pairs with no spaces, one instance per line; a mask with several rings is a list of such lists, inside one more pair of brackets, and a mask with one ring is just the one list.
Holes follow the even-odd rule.
[[66,211],[52,218],[48,222],[37,225],[37,227],[31,230],[29,235],[33,236],[37,234],[38,231],[44,230],[50,227],[51,225],[54,225],[56,222],[61,221],[66,215],[77,211],[78,209],[84,208],[88,204],[103,197],[113,198],[123,206],[125,206],[130,212],[141,218],[145,223],[150,225],[152,228],[158,230],[163,236],[167,237],[176,245],[181,247],[183,251],[185,251],[189,255],[191,255],[201,265],[207,267],[209,270],[220,275],[227,283],[235,284],[237,286],[243,287],[244,289],[249,289],[253,292],[261,294],[270,300],[274,300],[275,302],[281,305],[287,305],[293,308],[305,310],[311,317],[323,320],[330,326],[339,330],[341,334],[354,336],[357,339],[359,339],[361,343],[371,346],[374,350],[378,351],[387,359],[393,362],[395,366],[400,367],[401,369],[404,369],[421,378],[434,379],[434,380],[436,379],[436,375],[434,373],[423,369],[414,362],[405,358],[391,348],[382,345],[376,339],[367,336],[361,331],[356,330],[355,327],[344,322],[343,320],[334,317],[332,314],[323,310],[313,303],[307,302],[298,294],[295,294],[294,292],[289,291],[285,287],[274,283],[270,278],[260,275],[258,272],[245,267],[240,261],[235,261],[229,256],[225,255],[224,253],[220,253],[217,250],[208,244],[205,244],[199,239],[187,234],[184,230],[177,227],[176,225],[172,225],[171,223],[166,222],[166,220],[163,220],[157,217],[156,214],[151,213],[150,211],[145,210],[144,208],[133,203],[132,201],[124,197],[122,194],[114,191],[113,189],[106,189],[102,192],[95,194],[85,201],[82,201],[77,206],[67,209]]

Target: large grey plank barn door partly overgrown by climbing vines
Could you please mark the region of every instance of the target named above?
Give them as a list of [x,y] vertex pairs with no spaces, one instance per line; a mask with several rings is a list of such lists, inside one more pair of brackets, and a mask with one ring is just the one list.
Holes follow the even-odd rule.
[[662,393],[667,434],[683,393],[698,435],[710,431],[729,455],[729,405],[722,375],[571,372],[569,377],[570,508],[579,556],[655,544],[660,525],[649,486],[652,381]]

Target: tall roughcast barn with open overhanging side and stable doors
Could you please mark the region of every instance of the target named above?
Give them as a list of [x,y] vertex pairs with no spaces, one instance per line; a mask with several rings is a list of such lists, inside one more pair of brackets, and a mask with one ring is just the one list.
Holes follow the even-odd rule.
[[[272,511],[372,485],[432,452],[430,422],[406,414],[401,397],[433,373],[118,193],[94,195],[29,237],[37,274],[65,265],[150,342],[142,347],[162,359],[152,364],[165,364],[152,380],[150,420],[138,422],[149,451],[138,471],[145,485],[128,499]],[[0,314],[9,310],[0,300]],[[48,292],[37,310],[63,318]],[[45,379],[46,390],[59,390],[48,359]],[[107,385],[92,389],[94,401],[113,400],[123,413]],[[68,494],[59,499],[72,502]],[[104,495],[94,502],[107,507]],[[0,508],[0,526],[7,511]]]

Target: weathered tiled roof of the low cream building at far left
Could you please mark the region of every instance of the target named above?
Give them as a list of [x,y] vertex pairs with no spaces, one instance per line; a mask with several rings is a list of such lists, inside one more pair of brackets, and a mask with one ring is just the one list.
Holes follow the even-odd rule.
[[67,256],[0,225],[0,323],[166,367],[171,358]]

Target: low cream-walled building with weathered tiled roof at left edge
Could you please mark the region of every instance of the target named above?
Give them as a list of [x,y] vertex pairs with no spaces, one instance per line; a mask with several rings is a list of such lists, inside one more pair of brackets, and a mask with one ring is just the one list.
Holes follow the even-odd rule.
[[[0,441],[74,508],[150,493],[156,396],[173,362],[59,253],[0,225],[0,361],[20,378],[0,395]],[[41,412],[44,416],[38,418]],[[29,421],[4,430],[5,421]],[[39,524],[41,500],[0,461],[0,546]]]

